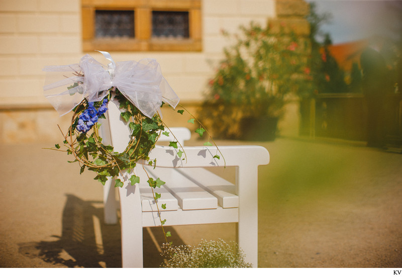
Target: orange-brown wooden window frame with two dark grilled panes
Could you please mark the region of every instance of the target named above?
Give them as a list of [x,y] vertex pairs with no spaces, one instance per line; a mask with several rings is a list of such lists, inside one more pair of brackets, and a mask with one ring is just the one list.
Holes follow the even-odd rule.
[[82,49],[202,51],[202,0],[80,0]]

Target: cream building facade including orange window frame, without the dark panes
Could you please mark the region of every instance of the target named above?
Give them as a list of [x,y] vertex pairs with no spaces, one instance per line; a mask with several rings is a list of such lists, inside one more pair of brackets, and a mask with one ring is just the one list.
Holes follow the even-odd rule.
[[[94,11],[122,9],[134,11],[135,39],[94,41]],[[152,38],[153,11],[188,12],[189,38]],[[87,53],[108,63],[93,50],[109,51],[115,61],[155,58],[181,103],[196,106],[230,44],[223,30],[280,19],[308,33],[306,11],[303,0],[0,0],[0,143],[61,139],[57,124],[67,126],[70,118],[59,118],[43,96],[46,65],[78,63]]]

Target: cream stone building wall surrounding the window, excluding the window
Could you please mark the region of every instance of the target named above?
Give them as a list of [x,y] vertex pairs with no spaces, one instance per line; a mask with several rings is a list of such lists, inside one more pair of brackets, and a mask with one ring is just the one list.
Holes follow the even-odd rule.
[[[300,21],[305,10],[303,0],[203,0],[201,52],[111,54],[115,61],[157,59],[181,103],[194,108],[214,73],[214,63],[230,43],[222,30],[233,33],[241,24],[264,25],[276,18],[306,32],[308,26]],[[69,117],[59,118],[43,97],[42,68],[78,63],[86,54],[81,34],[80,0],[0,0],[0,143],[60,139],[57,124],[68,126]],[[102,55],[90,54],[107,63]]]

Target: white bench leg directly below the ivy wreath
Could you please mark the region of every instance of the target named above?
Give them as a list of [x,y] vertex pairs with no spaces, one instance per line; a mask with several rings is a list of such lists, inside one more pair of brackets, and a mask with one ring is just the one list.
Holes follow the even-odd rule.
[[[120,178],[121,180],[123,178]],[[129,181],[119,188],[122,224],[122,266],[143,267],[140,188]]]

